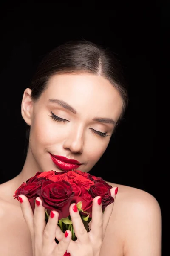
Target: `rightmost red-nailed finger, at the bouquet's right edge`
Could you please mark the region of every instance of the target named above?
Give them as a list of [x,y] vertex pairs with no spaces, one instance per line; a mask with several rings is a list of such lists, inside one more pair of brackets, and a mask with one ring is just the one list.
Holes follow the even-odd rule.
[[[111,189],[111,196],[114,198],[114,202],[115,202],[115,199],[116,199],[117,191],[118,191],[118,187],[113,187]],[[106,227],[108,226],[108,223],[109,223],[112,211],[113,211],[114,202],[112,204],[109,204],[105,208],[105,211],[104,211],[104,214],[103,214],[103,234],[105,234]]]

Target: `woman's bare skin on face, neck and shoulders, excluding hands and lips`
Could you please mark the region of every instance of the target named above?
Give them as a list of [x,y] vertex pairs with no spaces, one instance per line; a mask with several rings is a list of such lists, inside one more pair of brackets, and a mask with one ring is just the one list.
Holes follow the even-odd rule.
[[[113,85],[91,74],[54,76],[37,102],[30,95],[26,89],[21,106],[23,119],[31,126],[26,162],[17,177],[0,185],[3,256],[33,256],[30,231],[14,191],[37,171],[61,171],[49,152],[77,159],[82,163],[79,170],[89,172],[105,152],[115,126],[94,119],[110,118],[116,123],[122,112],[122,99]],[[50,99],[67,102],[77,114]],[[67,122],[51,119],[51,111]],[[109,184],[119,189],[99,256],[161,256],[161,211],[156,199],[136,188]]]

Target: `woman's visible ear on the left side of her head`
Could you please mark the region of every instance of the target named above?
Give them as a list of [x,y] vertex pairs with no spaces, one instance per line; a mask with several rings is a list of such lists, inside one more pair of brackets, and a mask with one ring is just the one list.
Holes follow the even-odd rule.
[[31,99],[31,89],[27,88],[23,94],[21,103],[21,114],[27,125],[31,125],[31,114],[33,109],[33,101]]

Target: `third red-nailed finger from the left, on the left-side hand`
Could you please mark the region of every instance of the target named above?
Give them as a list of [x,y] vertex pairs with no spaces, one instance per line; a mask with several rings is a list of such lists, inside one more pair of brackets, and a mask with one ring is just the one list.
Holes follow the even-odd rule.
[[58,223],[59,213],[56,211],[51,211],[48,222],[44,229],[43,233],[43,246],[48,247],[50,246],[56,237],[56,229]]

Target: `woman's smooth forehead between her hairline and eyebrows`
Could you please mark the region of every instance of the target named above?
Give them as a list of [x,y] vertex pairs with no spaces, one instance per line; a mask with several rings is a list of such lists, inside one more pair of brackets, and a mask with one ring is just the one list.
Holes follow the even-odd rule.
[[43,97],[64,100],[77,110],[95,109],[101,114],[113,111],[118,119],[122,112],[122,97],[110,81],[89,73],[52,76]]

